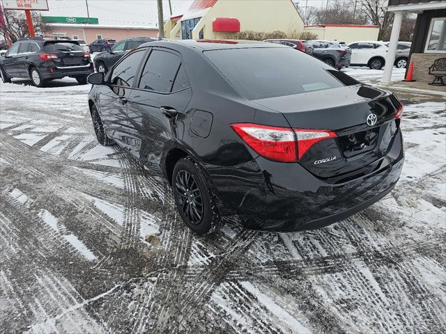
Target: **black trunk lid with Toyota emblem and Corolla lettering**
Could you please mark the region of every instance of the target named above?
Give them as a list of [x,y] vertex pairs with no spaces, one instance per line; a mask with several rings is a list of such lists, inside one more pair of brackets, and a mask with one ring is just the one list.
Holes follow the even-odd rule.
[[[382,158],[399,127],[399,120],[394,119],[397,98],[370,86],[346,86],[254,102],[281,112],[294,129],[325,129],[337,134],[315,143],[299,160],[322,178],[351,173]],[[377,120],[368,125],[371,113]]]

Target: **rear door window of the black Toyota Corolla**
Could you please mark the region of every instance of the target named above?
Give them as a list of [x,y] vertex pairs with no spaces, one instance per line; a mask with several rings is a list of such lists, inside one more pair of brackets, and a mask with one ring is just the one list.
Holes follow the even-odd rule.
[[154,50],[142,71],[139,88],[160,93],[170,93],[180,58],[170,52]]

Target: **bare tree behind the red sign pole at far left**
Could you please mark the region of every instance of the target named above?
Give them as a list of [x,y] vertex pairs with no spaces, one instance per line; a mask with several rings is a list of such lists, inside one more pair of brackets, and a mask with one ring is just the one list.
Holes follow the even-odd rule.
[[[22,10],[5,10],[5,26],[1,26],[1,34],[8,35],[11,42],[29,37],[28,22]],[[39,13],[31,12],[36,35],[52,33],[52,26],[43,21]]]

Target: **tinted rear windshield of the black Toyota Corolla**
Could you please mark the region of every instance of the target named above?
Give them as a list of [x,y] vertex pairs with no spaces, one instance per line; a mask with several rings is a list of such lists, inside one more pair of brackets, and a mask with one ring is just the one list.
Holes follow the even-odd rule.
[[205,51],[226,79],[249,100],[266,99],[348,86],[316,58],[291,48]]

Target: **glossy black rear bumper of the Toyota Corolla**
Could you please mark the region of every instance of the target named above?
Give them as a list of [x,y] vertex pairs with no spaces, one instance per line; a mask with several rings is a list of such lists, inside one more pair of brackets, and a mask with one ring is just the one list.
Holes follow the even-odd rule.
[[[329,179],[317,177],[300,164],[258,157],[256,168],[253,163],[238,168],[225,204],[231,202],[242,224],[253,230],[292,232],[330,225],[369,207],[394,188],[403,168],[401,132],[396,139],[378,161]],[[221,183],[217,181],[220,191],[223,182],[229,184],[231,177],[226,174]]]

